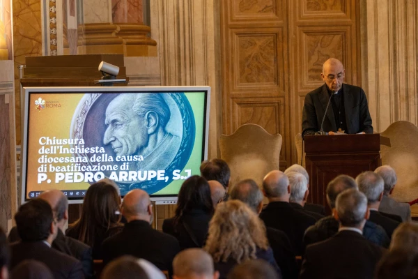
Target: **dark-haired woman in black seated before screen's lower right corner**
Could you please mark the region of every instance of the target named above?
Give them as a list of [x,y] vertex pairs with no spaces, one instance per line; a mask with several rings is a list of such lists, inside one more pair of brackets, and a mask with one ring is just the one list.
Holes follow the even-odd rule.
[[190,176],[178,193],[176,215],[164,220],[162,231],[175,236],[182,250],[201,248],[213,210],[208,181],[201,176]]

